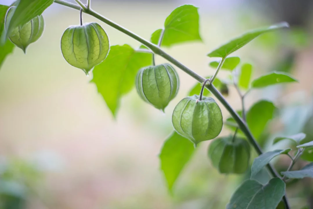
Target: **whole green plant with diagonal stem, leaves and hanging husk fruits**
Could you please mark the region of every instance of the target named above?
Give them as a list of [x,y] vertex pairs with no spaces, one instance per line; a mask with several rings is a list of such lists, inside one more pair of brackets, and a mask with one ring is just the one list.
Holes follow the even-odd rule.
[[[173,132],[167,138],[161,150],[161,168],[164,172],[168,189],[171,192],[184,165],[186,165],[192,153],[195,152],[194,145],[201,141],[217,137],[221,131],[223,118],[220,108],[213,98],[207,97],[212,93],[231,115],[230,118],[225,120],[224,124],[235,132],[232,137],[221,140],[225,143],[222,147],[223,149],[215,150],[214,145],[219,142],[219,139],[216,139],[210,145],[211,159],[213,160],[213,157],[217,156],[223,158],[218,159],[218,166],[217,161],[214,159],[213,165],[216,165],[222,173],[243,173],[246,168],[249,168],[247,165],[250,157],[250,149],[247,148],[249,147],[247,145],[248,142],[250,146],[254,148],[256,154],[258,154],[258,157],[254,159],[251,166],[250,179],[244,181],[234,192],[227,208],[276,208],[280,201],[283,201],[285,208],[290,208],[285,194],[286,182],[292,179],[313,177],[311,169],[312,164],[306,165],[301,170],[292,170],[300,156],[313,147],[312,140],[305,138],[305,134],[302,133],[279,137],[275,139],[275,142],[283,139],[295,141],[296,152],[294,156],[290,154],[290,149],[279,149],[263,153],[258,140],[261,138],[261,134],[267,122],[273,118],[276,107],[273,102],[262,100],[256,102],[249,111],[246,111],[244,99],[253,89],[294,82],[296,80],[288,73],[273,72],[251,82],[252,65],[245,63],[239,67],[239,57],[228,57],[234,51],[248,44],[261,34],[287,28],[287,23],[280,23],[268,28],[250,31],[210,52],[208,54],[209,57],[219,58],[219,60],[209,64],[211,67],[216,67],[217,70],[213,76],[205,79],[161,49],[163,46],[171,47],[186,41],[201,41],[198,8],[192,5],[183,5],[176,8],[166,18],[164,27],[156,30],[151,35],[151,42],[149,42],[93,11],[90,8],[90,0],[88,0],[87,6],[79,0],[76,0],[76,2],[78,5],[62,0],[19,0],[15,4],[16,9],[10,19],[5,18],[10,7],[0,5],[0,65],[4,58],[13,51],[14,44],[11,43],[8,38],[11,38],[14,34],[14,30],[17,27],[23,27],[29,24],[29,21],[40,16],[52,3],[58,3],[69,8],[80,10],[81,15],[82,12],[90,14],[142,44],[137,50],[125,44],[122,46],[111,46],[109,51],[109,41],[105,31],[96,23],[82,26],[81,16],[81,25],[67,29],[62,37],[61,50],[65,60],[68,61],[69,64],[83,69],[86,74],[94,67],[92,82],[97,86],[98,91],[104,97],[105,102],[114,116],[116,116],[121,97],[134,87],[135,77],[140,69],[144,70],[139,71],[136,85],[141,97],[146,102],[151,103],[156,108],[164,110],[168,102],[175,97],[179,86],[178,76],[172,67],[170,68],[173,73],[169,72],[167,67],[154,66],[155,55],[162,56],[182,71],[192,76],[200,84],[203,83],[202,87],[200,84],[195,85],[188,95],[191,97],[187,97],[177,104],[173,112],[173,126],[181,135],[177,132]],[[97,29],[95,29],[95,27]],[[75,36],[75,32],[78,33],[77,36]],[[94,41],[99,42],[99,44],[95,44]],[[28,44],[29,43],[31,42],[28,42]],[[160,68],[162,68],[162,72]],[[147,69],[147,79],[143,80],[144,71]],[[240,111],[235,111],[216,89],[218,88],[224,93],[228,92],[228,83],[217,78],[220,70],[231,72],[233,81],[230,84],[236,87],[242,102],[242,109]],[[150,71],[152,78],[149,78]],[[141,82],[139,82],[140,78]],[[167,79],[167,81],[164,79]],[[121,82],[121,80],[123,82]],[[207,81],[209,81],[208,84],[206,84]],[[161,86],[158,86],[159,84]],[[176,86],[172,86],[174,84]],[[209,91],[206,91],[204,88],[207,88]],[[147,91],[145,89],[147,89]],[[243,93],[243,91],[245,92]],[[200,96],[194,96],[195,92],[197,92],[196,94],[200,93]],[[240,134],[244,136],[244,138],[237,138],[236,134]],[[303,142],[304,140],[306,140],[306,143]],[[233,151],[237,149],[244,150],[246,155],[239,156]],[[215,151],[219,152],[215,155]],[[281,154],[288,155],[291,158],[291,164],[286,171],[278,173],[269,162],[275,156]],[[233,162],[235,165],[237,160],[242,160],[241,163],[243,163],[244,166],[237,167],[230,165],[229,161]],[[266,167],[272,175],[272,179],[265,185],[254,179],[255,175],[264,167]]]

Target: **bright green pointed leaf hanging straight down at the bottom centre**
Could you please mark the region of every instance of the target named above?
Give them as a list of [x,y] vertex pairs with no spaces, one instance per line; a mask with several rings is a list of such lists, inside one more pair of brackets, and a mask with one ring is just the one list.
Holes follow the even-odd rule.
[[159,157],[169,191],[172,192],[177,177],[191,158],[194,150],[194,144],[176,131],[164,142]]

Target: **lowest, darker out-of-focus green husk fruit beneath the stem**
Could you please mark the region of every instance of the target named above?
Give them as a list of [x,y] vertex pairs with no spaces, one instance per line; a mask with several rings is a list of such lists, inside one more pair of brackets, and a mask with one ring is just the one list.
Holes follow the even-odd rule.
[[244,138],[217,138],[209,145],[208,157],[220,173],[242,174],[249,166],[250,146]]

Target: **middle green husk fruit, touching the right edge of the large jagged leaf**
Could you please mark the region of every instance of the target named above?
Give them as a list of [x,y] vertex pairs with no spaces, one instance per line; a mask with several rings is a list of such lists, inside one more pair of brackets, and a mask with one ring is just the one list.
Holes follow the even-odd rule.
[[164,112],[179,89],[179,77],[169,64],[141,68],[136,77],[139,96]]

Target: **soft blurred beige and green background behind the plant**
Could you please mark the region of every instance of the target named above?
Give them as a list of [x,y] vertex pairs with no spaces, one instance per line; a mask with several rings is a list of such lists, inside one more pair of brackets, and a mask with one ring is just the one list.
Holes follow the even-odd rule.
[[[12,0],[1,0],[9,5]],[[248,29],[287,21],[290,30],[265,34],[233,55],[254,66],[256,78],[269,71],[293,74],[300,83],[252,91],[246,106],[261,98],[279,107],[263,133],[264,150],[274,149],[277,135],[305,132],[313,136],[312,0],[92,0],[92,8],[116,23],[150,39],[154,30],[182,4],[199,7],[203,43],[165,49],[202,76],[212,75],[206,54]],[[172,132],[172,110],[196,83],[177,70],[181,86],[162,113],[131,91],[114,119],[90,83],[92,74],[69,65],[60,38],[79,24],[79,11],[53,4],[44,12],[43,36],[7,57],[0,70],[0,202],[3,209],[216,209],[225,208],[246,175],[220,175],[207,158],[204,142],[176,182],[171,196],[160,171],[158,154]],[[96,21],[110,44],[140,44]],[[164,60],[156,57],[156,63]],[[227,72],[219,77],[227,78]],[[240,109],[236,90],[227,100]],[[229,113],[221,106],[223,117]],[[222,135],[228,135],[223,128]],[[287,146],[287,145],[286,145]],[[313,156],[306,153],[307,159]],[[277,159],[281,169],[288,158]],[[300,162],[301,164],[301,162]],[[285,166],[285,167],[284,167]],[[265,172],[266,173],[266,172]],[[266,175],[260,181],[266,182]],[[304,189],[303,189],[304,188]],[[292,208],[313,208],[310,180],[288,186]],[[0,206],[1,207],[1,206]]]

